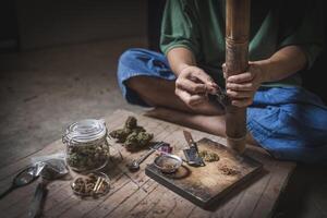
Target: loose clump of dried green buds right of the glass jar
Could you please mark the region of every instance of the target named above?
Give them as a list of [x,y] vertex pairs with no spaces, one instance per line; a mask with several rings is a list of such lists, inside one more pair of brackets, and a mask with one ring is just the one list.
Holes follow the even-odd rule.
[[129,117],[124,128],[111,131],[109,135],[122,143],[129,152],[136,152],[148,147],[149,142],[154,138],[154,134],[147,133],[143,126],[137,125],[134,117]]

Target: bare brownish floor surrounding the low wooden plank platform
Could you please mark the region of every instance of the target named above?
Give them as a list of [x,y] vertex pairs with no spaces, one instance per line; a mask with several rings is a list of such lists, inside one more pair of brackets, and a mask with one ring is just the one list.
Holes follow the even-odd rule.
[[[146,48],[145,36],[1,53],[0,169],[41,150],[76,120],[143,111],[117,85],[118,58],[131,47]],[[298,165],[275,216],[327,217],[326,174],[326,167]]]

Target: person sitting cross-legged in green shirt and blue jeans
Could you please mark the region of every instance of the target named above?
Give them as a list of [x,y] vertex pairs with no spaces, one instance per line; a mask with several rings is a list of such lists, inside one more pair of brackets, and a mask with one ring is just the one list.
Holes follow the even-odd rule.
[[148,116],[226,136],[223,106],[208,94],[226,89],[247,107],[247,143],[279,159],[327,162],[327,107],[301,86],[323,45],[318,0],[252,0],[249,69],[225,78],[225,1],[168,0],[161,26],[164,52],[129,49],[118,80],[130,104]]

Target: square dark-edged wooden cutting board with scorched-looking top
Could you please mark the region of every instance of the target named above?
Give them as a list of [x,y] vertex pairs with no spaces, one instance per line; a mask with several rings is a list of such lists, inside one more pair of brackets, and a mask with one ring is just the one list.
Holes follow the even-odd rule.
[[[205,167],[191,167],[183,162],[172,174],[162,173],[150,164],[146,167],[145,173],[194,204],[208,208],[216,205],[230,191],[246,181],[250,182],[263,168],[261,162],[247,156],[239,156],[208,138],[202,138],[197,145],[199,152],[216,153],[219,160],[206,162]],[[184,158],[182,150],[178,155]]]

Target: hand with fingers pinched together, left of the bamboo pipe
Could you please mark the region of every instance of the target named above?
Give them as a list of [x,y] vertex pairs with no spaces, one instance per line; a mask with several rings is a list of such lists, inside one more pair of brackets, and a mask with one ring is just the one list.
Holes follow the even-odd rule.
[[218,85],[202,69],[184,66],[175,81],[175,95],[190,108],[207,101],[207,94],[215,94]]

